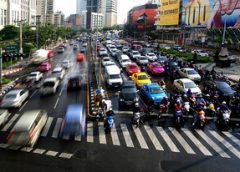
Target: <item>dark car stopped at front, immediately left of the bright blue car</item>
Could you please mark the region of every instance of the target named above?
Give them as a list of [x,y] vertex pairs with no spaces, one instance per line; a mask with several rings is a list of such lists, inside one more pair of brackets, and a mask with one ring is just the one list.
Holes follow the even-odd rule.
[[138,100],[137,88],[133,81],[124,81],[119,91],[119,107],[131,106]]

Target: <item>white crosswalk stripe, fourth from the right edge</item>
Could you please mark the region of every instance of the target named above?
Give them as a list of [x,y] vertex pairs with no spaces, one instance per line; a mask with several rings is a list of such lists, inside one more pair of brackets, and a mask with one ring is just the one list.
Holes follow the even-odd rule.
[[211,152],[186,128],[181,129],[188,138],[196,145],[196,147],[203,153],[205,156],[212,156]]

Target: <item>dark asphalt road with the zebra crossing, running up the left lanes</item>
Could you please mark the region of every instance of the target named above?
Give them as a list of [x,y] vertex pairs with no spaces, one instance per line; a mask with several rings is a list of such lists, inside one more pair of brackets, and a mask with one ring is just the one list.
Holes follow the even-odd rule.
[[[218,131],[213,121],[204,131],[193,130],[191,118],[186,118],[184,128],[176,130],[170,115],[134,128],[131,109],[119,110],[118,97],[110,90],[108,96],[118,112],[111,134],[104,133],[102,121],[88,120],[86,137],[81,141],[77,137],[58,138],[69,104],[81,103],[88,111],[90,53],[83,63],[76,63],[75,55],[68,46],[64,54],[53,58],[53,66],[63,59],[74,61],[57,94],[40,97],[36,89],[21,108],[11,111],[7,124],[0,128],[1,171],[240,171],[237,130]],[[73,74],[83,76],[83,88],[67,92],[67,78]],[[50,72],[45,77],[49,75]],[[128,79],[125,74],[124,78]],[[3,142],[7,134],[23,112],[32,109],[45,109],[49,115],[38,143],[34,148],[9,147]]]

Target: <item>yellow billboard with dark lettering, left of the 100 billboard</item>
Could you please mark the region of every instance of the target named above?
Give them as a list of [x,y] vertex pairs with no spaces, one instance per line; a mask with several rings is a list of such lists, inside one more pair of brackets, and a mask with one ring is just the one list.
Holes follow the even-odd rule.
[[180,0],[162,0],[160,4],[160,26],[172,26],[179,23]]

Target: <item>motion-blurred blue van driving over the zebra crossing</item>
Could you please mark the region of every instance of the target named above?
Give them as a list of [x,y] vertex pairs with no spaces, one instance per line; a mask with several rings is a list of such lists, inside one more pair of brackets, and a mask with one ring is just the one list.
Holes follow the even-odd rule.
[[67,107],[66,115],[61,125],[60,137],[75,136],[81,138],[86,132],[86,113],[81,104],[71,104]]

